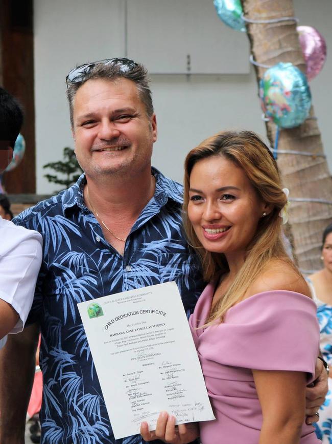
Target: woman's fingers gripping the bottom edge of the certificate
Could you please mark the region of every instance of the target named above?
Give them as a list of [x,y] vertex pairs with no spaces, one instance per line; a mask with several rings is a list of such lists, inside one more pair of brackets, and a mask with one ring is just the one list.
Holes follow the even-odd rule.
[[161,439],[170,444],[187,444],[194,441],[199,436],[197,422],[188,422],[175,426],[175,416],[167,412],[161,412],[156,425],[156,430],[150,432],[147,422],[142,422],[140,434],[145,441]]

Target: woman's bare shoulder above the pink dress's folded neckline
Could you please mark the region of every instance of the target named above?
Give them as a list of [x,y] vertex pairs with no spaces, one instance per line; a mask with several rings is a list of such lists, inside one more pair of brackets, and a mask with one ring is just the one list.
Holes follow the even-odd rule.
[[301,274],[291,264],[279,259],[274,259],[266,265],[250,285],[247,293],[249,297],[252,294],[273,290],[295,291],[311,298],[309,286]]

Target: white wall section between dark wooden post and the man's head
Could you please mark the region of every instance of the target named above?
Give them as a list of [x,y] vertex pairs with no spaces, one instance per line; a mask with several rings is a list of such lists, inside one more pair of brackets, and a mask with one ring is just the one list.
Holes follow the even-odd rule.
[[[37,194],[57,189],[42,165],[73,145],[65,77],[78,64],[124,53],[122,0],[35,0],[34,58]],[[53,173],[53,171],[47,171]]]

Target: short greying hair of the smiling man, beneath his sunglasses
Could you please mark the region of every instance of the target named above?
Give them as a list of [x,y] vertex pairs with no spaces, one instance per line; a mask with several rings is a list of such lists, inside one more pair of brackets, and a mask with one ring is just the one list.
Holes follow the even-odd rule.
[[120,65],[117,64],[105,65],[103,64],[103,62],[101,62],[97,63],[96,66],[89,71],[84,80],[75,83],[68,81],[67,83],[68,84],[67,98],[69,101],[70,123],[72,124],[72,128],[74,126],[74,117],[73,117],[74,98],[78,89],[87,80],[105,79],[105,80],[115,81],[121,78],[132,80],[136,84],[138,96],[140,100],[145,104],[147,116],[148,117],[152,116],[153,114],[152,93],[150,90],[150,77],[148,75],[147,69],[143,65],[135,63],[135,66],[132,69],[124,71]]

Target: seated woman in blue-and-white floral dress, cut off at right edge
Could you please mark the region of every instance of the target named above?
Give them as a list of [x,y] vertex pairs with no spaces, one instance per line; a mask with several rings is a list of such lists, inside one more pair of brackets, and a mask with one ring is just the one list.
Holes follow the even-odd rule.
[[[324,268],[312,274],[310,283],[313,299],[317,304],[320,327],[320,349],[325,361],[332,365],[332,224],[323,232],[322,256]],[[320,419],[315,425],[317,436],[323,443],[332,443],[332,379],[328,378],[329,391],[324,405],[320,408]]]

